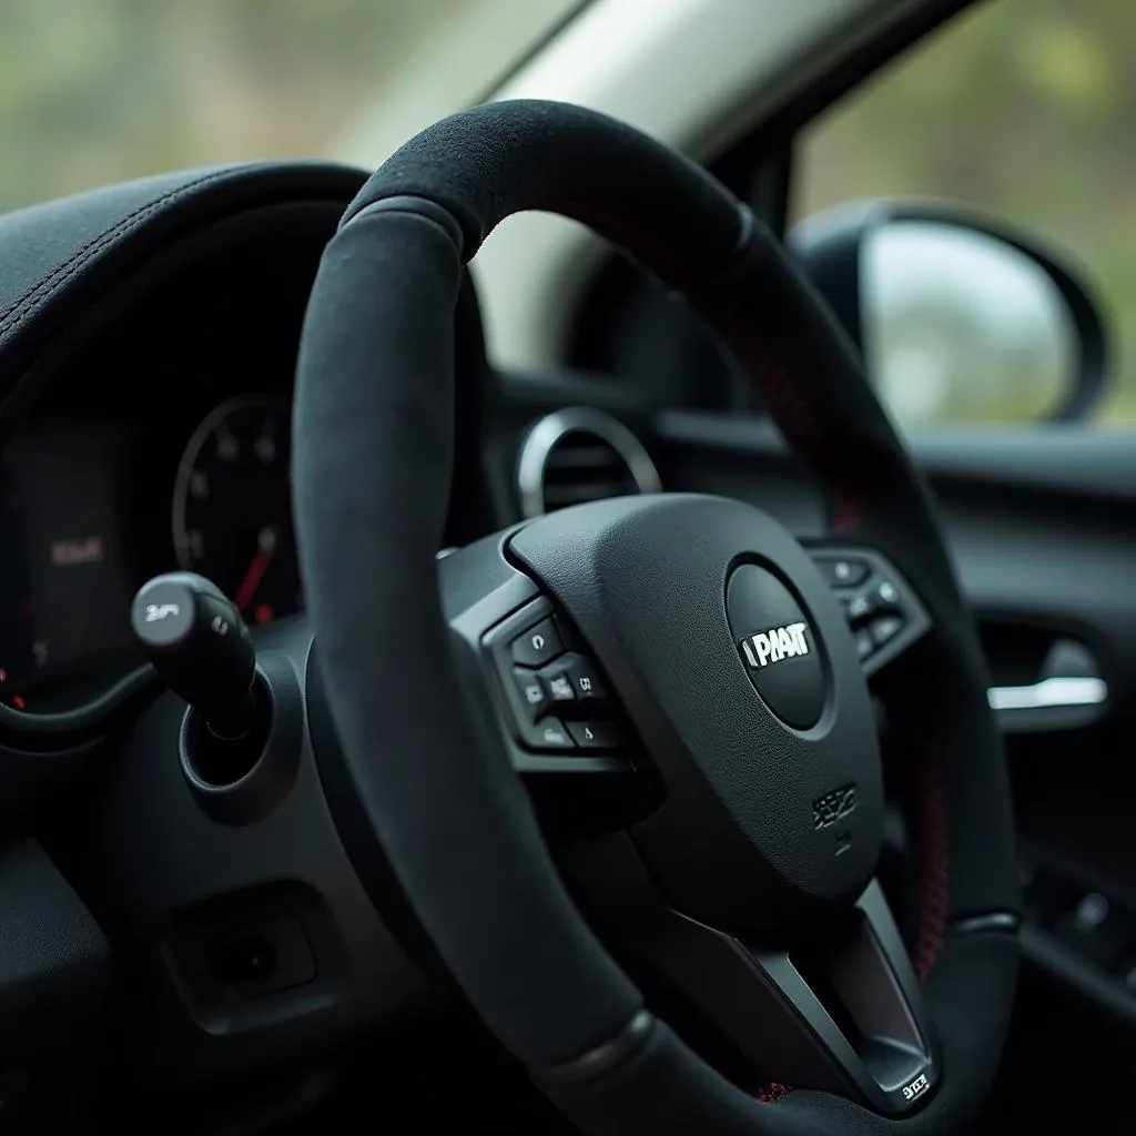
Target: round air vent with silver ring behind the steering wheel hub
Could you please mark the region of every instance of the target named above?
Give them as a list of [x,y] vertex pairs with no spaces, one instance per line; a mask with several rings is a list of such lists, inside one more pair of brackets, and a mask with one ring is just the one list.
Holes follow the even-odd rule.
[[517,487],[521,512],[540,517],[585,501],[657,493],[661,486],[643,443],[621,421],[602,410],[570,407],[528,432]]

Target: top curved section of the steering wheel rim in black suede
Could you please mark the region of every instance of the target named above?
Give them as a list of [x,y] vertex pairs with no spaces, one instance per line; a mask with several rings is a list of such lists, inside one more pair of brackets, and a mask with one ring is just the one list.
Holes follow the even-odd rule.
[[451,210],[467,261],[506,217],[540,209],[642,254],[678,289],[727,272],[742,237],[737,200],[700,166],[567,102],[486,103],[427,127],[383,164],[344,220],[402,194]]

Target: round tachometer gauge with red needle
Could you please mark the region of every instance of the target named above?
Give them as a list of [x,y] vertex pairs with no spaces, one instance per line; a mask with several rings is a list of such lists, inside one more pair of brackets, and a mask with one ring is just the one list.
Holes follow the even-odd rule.
[[177,468],[177,561],[209,577],[253,624],[272,623],[303,605],[290,458],[287,406],[267,395],[244,395],[204,418]]

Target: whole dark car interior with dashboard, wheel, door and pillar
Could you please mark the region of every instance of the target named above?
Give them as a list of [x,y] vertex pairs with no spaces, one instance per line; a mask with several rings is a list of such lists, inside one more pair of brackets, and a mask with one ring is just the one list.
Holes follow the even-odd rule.
[[778,2],[0,214],[0,1131],[1131,1130],[1129,325]]

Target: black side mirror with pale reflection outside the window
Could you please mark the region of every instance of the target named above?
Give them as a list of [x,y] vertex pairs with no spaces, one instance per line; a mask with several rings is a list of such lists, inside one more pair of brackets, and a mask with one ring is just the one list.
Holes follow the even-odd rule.
[[790,248],[904,426],[1071,421],[1105,391],[1109,344],[1088,287],[1001,223],[871,201],[810,218]]

